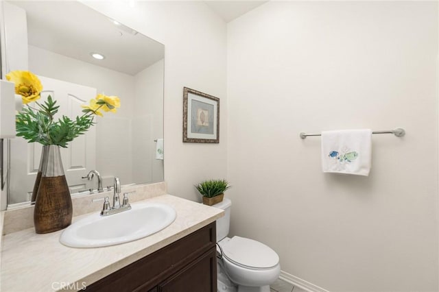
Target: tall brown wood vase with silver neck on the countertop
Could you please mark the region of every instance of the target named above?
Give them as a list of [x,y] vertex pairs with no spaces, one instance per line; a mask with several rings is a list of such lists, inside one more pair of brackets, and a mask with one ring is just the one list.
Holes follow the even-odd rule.
[[69,185],[62,168],[60,147],[47,146],[34,208],[36,233],[62,230],[71,224],[73,207]]

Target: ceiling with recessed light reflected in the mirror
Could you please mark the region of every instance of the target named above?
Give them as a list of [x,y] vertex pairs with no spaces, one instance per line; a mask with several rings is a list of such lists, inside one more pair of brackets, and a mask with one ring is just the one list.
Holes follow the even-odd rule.
[[[129,75],[164,58],[161,43],[78,1],[10,3],[26,10],[28,42],[34,47]],[[92,52],[105,60],[91,58]]]

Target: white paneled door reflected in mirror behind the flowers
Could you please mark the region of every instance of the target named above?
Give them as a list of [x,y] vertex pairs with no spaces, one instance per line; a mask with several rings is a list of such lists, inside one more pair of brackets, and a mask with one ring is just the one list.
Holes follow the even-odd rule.
[[[51,95],[60,108],[56,119],[65,115],[75,119],[82,114],[81,104],[88,104],[95,98],[96,88],[64,82],[48,77],[38,76],[43,84],[43,92],[38,103],[42,104]],[[32,107],[36,106],[31,104]],[[90,188],[89,182],[81,177],[96,166],[96,132],[91,127],[86,134],[71,141],[68,148],[61,148],[62,165],[66,174],[71,193]],[[27,143],[25,139],[16,137],[11,141],[11,193],[20,194],[21,202],[29,200],[38,173],[41,150],[39,143]],[[16,167],[15,167],[16,166]],[[14,167],[14,169],[12,169]],[[14,203],[14,202],[12,202]]]

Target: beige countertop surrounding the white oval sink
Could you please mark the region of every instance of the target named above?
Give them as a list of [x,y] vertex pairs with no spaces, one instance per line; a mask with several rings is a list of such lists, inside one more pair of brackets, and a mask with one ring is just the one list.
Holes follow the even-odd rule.
[[[4,235],[1,239],[1,291],[80,290],[224,215],[223,210],[173,195],[160,195],[141,202],[172,206],[177,212],[176,220],[143,239],[98,248],[64,246],[59,242],[62,230],[36,234],[34,228],[28,228]],[[85,216],[75,217],[73,221]]]

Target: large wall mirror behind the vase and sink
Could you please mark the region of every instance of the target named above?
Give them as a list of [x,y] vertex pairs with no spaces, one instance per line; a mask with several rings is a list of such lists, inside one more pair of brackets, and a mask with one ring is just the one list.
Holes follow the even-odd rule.
[[[163,138],[164,45],[80,2],[5,4],[26,12],[28,69],[41,76],[43,86],[50,84],[44,90],[56,95],[52,82],[73,84],[121,100],[117,113],[97,117],[97,124],[87,132],[90,136],[75,138],[69,143],[71,149],[62,149],[72,195],[97,189],[96,177],[82,178],[91,170],[99,171],[104,190],[112,186],[115,176],[122,185],[163,181],[163,158],[156,156],[156,141]],[[8,61],[8,53],[13,52],[7,41],[6,46]],[[104,60],[93,59],[91,53],[101,53]],[[19,70],[8,68],[8,62],[6,69]],[[75,117],[82,109],[73,99],[68,102],[77,103]],[[89,99],[84,101],[88,104]],[[21,137],[9,143],[8,208],[29,201],[41,154],[40,145]]]

